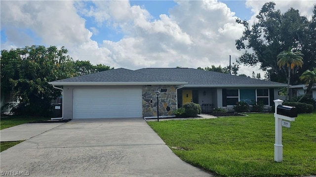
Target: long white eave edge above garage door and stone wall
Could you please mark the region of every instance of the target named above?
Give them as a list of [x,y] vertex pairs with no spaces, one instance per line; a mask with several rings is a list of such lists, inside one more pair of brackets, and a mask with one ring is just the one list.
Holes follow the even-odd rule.
[[144,86],[185,85],[188,82],[49,82],[53,86]]

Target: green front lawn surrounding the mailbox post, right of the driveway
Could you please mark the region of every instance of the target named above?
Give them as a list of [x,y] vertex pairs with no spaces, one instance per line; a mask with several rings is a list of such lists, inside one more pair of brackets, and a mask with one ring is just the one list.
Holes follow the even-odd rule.
[[182,160],[225,177],[316,175],[316,114],[282,127],[283,162],[274,161],[273,114],[151,121],[148,124]]

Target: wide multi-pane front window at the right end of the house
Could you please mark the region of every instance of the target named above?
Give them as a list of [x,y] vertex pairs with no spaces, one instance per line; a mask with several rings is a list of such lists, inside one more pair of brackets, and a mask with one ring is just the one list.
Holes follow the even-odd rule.
[[269,89],[226,89],[226,98],[223,99],[226,99],[227,106],[234,106],[238,101],[249,105],[261,101],[264,105],[269,105],[269,98]]

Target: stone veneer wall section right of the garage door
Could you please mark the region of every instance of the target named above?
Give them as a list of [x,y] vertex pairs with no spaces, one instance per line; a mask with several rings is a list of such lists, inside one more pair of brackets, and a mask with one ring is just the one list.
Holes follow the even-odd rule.
[[157,116],[157,89],[167,89],[159,94],[159,116],[173,115],[173,110],[177,109],[175,86],[143,86],[143,117]]

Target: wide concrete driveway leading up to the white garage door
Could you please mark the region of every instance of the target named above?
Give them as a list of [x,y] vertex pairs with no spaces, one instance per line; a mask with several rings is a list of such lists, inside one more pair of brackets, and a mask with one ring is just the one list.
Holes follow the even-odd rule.
[[210,177],[178,158],[142,118],[72,120],[0,153],[1,175]]

